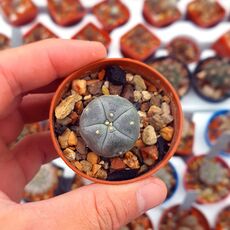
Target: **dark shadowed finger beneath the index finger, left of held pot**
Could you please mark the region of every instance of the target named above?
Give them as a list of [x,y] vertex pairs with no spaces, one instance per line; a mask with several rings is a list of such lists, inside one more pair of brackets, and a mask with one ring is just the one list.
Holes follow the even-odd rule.
[[52,97],[53,93],[24,96],[19,108],[24,123],[46,120],[49,116]]

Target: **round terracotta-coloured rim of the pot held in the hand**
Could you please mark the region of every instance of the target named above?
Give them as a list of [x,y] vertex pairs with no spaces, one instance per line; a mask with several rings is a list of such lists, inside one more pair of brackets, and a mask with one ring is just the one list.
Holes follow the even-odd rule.
[[[74,79],[80,79],[84,77],[85,73],[90,73],[90,72],[95,72],[97,70],[105,68],[107,65],[119,65],[120,67],[123,67],[125,70],[128,70],[130,72],[140,74],[143,79],[146,81],[146,84],[154,84],[156,87],[163,89],[165,91],[166,95],[171,99],[171,110],[172,110],[172,115],[174,117],[174,136],[171,141],[170,148],[168,150],[168,153],[165,155],[164,159],[160,161],[155,167],[153,167],[151,170],[146,172],[143,175],[140,175],[138,177],[135,177],[133,179],[129,180],[123,180],[123,181],[106,181],[106,180],[100,180],[96,179],[93,177],[90,177],[86,175],[85,173],[79,171],[76,169],[63,155],[62,150],[59,147],[59,143],[57,141],[57,138],[55,136],[54,132],[54,123],[53,123],[53,116],[54,116],[54,110],[57,104],[59,103],[62,94],[64,93],[66,86],[71,83]],[[49,120],[50,120],[50,131],[51,131],[51,137],[52,141],[54,144],[54,147],[58,153],[58,155],[64,160],[64,162],[78,175],[94,181],[94,182],[99,182],[103,184],[127,184],[130,182],[135,182],[139,181],[141,179],[144,179],[146,177],[149,177],[153,175],[156,171],[158,171],[160,168],[165,166],[169,159],[173,156],[175,153],[178,144],[180,142],[180,137],[181,137],[181,132],[182,132],[182,119],[183,119],[183,114],[182,114],[182,109],[180,105],[179,98],[174,91],[173,87],[170,85],[170,83],[156,70],[150,68],[144,63],[132,60],[132,59],[127,59],[127,58],[111,58],[111,59],[102,59],[100,61],[91,63],[87,66],[84,66],[80,68],[79,70],[76,70],[72,74],[70,74],[59,86],[57,89],[52,103],[50,107],[50,113],[49,113]]]

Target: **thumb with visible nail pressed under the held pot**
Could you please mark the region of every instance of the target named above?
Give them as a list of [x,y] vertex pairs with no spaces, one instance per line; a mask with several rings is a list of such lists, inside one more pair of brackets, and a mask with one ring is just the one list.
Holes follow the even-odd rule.
[[92,184],[26,204],[23,216],[32,229],[119,229],[165,197],[164,183],[153,177],[128,185]]

